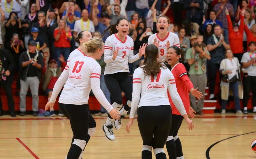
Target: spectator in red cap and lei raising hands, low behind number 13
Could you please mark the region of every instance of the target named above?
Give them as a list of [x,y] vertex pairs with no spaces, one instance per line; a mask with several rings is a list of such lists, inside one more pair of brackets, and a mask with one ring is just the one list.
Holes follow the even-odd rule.
[[[47,57],[48,52],[44,52],[44,61]],[[58,67],[57,62],[52,59],[49,63],[49,67],[44,67],[42,70],[43,73],[43,91],[48,96],[48,101],[52,96],[52,90],[57,82],[58,78],[60,77],[62,71],[64,70],[65,66],[67,65],[66,61],[64,60],[64,56],[60,55],[59,60],[61,61],[61,67]],[[50,107],[50,116],[55,116],[53,107]],[[58,116],[64,116],[61,112]]]

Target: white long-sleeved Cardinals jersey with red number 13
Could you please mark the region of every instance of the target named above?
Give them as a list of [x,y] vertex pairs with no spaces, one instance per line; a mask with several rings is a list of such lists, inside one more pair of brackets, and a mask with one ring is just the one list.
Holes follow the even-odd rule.
[[50,102],[56,98],[64,85],[59,102],[63,104],[87,104],[89,93],[92,90],[99,103],[109,112],[113,109],[100,88],[101,67],[90,56],[78,56],[70,60],[61,76],[58,78],[52,91]]

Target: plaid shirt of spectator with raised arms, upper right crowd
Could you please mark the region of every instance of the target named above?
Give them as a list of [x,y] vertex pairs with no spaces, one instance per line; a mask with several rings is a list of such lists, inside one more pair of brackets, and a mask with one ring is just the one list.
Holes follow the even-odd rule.
[[[216,12],[218,12],[220,10],[220,5],[221,3],[218,3],[216,5],[214,5],[214,10]],[[230,3],[226,3],[226,5],[224,5],[223,7],[223,10],[220,12],[220,15],[217,16],[216,20],[219,20],[222,22],[222,25],[223,25],[223,29],[227,29],[228,28],[228,21],[227,21],[227,17],[226,17],[226,13],[225,13],[225,8],[227,8],[228,10],[231,9],[231,12],[233,13],[234,15],[234,8],[233,8],[233,5],[230,4]]]

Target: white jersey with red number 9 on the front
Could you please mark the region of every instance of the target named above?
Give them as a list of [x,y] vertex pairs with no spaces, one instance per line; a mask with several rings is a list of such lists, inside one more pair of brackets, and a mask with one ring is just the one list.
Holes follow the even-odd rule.
[[158,33],[155,33],[153,35],[151,35],[148,38],[148,45],[153,44],[155,38],[157,39],[157,42],[159,41],[159,48],[158,48],[158,52],[159,52],[159,59],[160,60],[164,60],[166,59],[166,52],[167,52],[167,41],[170,42],[170,46],[177,46],[180,48],[180,39],[178,37],[178,35],[172,33],[172,32],[168,32],[167,36],[164,39],[160,39],[158,37]]

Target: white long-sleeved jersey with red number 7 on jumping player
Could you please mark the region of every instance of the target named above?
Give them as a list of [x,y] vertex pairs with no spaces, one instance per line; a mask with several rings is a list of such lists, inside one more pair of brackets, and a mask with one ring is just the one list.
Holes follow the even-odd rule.
[[[114,49],[118,49],[118,55],[115,60],[112,59]],[[126,35],[124,41],[117,38],[116,34],[110,35],[105,41],[104,61],[107,64],[105,74],[117,72],[129,72],[128,62],[133,63],[138,60],[139,54],[133,55],[133,39]]]

